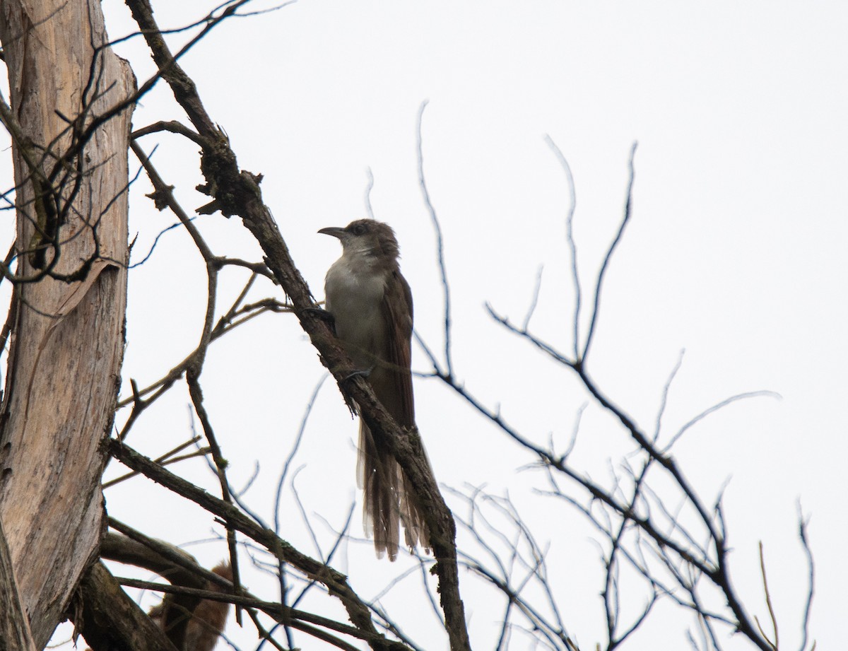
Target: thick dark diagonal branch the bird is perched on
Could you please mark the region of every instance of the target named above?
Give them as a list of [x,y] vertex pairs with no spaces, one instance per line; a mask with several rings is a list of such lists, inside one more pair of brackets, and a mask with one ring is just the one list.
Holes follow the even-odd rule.
[[315,313],[315,301],[309,287],[300,275],[288,252],[287,244],[271,215],[262,202],[259,182],[261,176],[239,170],[235,153],[229,146],[226,134],[206,113],[197,89],[180,66],[176,64],[165,41],[158,35],[158,26],[148,0],[127,0],[133,18],[153,52],[153,59],[174,92],[176,101],[186,111],[198,134],[204,138],[201,170],[207,180],[200,189],[213,198],[201,209],[211,213],[220,210],[229,217],[238,215],[265,253],[265,263],[276,281],[290,298],[295,314],[304,331],[321,355],[321,361],[332,372],[340,390],[349,404],[359,406],[361,415],[371,431],[385,438],[404,472],[420,492],[427,529],[431,532],[433,553],[437,563],[435,572],[439,580],[439,594],[450,647],[469,648],[465,608],[460,598],[459,570],[456,563],[456,526],[429,465],[421,439],[416,433],[400,428],[377,401],[371,386],[360,376],[354,376],[354,365],[343,351],[326,320]]

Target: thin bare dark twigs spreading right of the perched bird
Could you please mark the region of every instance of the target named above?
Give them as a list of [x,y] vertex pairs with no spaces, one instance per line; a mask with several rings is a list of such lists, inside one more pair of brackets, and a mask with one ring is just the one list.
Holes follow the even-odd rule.
[[[733,586],[728,565],[728,526],[722,510],[722,495],[719,494],[712,506],[709,506],[689,482],[689,479],[672,456],[675,442],[685,431],[707,415],[737,400],[758,396],[775,396],[772,392],[749,392],[734,395],[713,405],[689,420],[672,436],[661,431],[661,420],[666,408],[669,387],[676,375],[678,366],[672,371],[666,387],[659,414],[656,419],[656,431],[649,432],[640,427],[612,398],[594,382],[589,375],[587,362],[595,326],[600,316],[600,297],[605,275],[616,247],[622,240],[625,228],[632,214],[633,191],[633,145],[629,160],[629,183],[622,220],[615,236],[607,248],[600,270],[594,277],[593,303],[589,313],[589,327],[585,336],[581,335],[583,323],[583,287],[578,274],[577,244],[572,235],[572,220],[575,209],[575,191],[571,170],[566,158],[550,137],[548,143],[559,160],[568,181],[571,204],[566,215],[566,241],[572,261],[572,281],[574,291],[574,309],[572,316],[573,335],[572,353],[564,353],[554,344],[546,342],[528,329],[538,298],[538,283],[533,294],[530,309],[522,325],[512,323],[487,303],[492,319],[517,337],[530,342],[541,350],[555,364],[571,370],[583,384],[593,402],[614,415],[619,424],[628,432],[636,444],[636,452],[630,453],[620,461],[620,467],[611,468],[611,485],[594,481],[587,473],[570,463],[570,455],[577,441],[579,427],[573,432],[572,440],[565,449],[557,449],[553,441],[538,444],[532,437],[523,434],[505,420],[500,409],[488,409],[482,400],[475,397],[466,385],[457,380],[455,368],[450,356],[450,304],[448,280],[442,253],[442,235],[438,218],[429,200],[427,185],[423,173],[421,153],[421,115],[419,114],[419,173],[421,191],[430,211],[433,225],[438,236],[438,261],[444,285],[444,360],[419,340],[432,363],[431,377],[442,381],[460,396],[466,403],[484,418],[503,431],[520,447],[526,449],[536,459],[535,467],[544,473],[546,486],[539,493],[564,503],[569,509],[582,514],[601,539],[601,561],[605,569],[605,578],[601,588],[601,598],[606,622],[606,641],[603,648],[613,649],[624,643],[648,619],[656,604],[665,598],[695,616],[696,636],[689,632],[689,644],[695,649],[721,649],[722,636],[718,629],[738,632],[745,636],[756,648],[763,651],[776,651],[778,648],[778,622],[771,606],[771,598],[766,581],[766,567],[762,563],[762,583],[772,632],[763,631],[756,616],[751,616],[749,607]],[[426,377],[426,375],[425,375]],[[579,415],[577,417],[579,425]],[[657,477],[657,476],[665,477]],[[672,493],[655,491],[652,486],[656,479],[670,479]],[[676,494],[674,494],[676,491]],[[478,548],[483,551],[488,563],[467,552],[463,553],[463,563],[474,570],[478,576],[488,581],[505,598],[505,614],[498,648],[506,648],[510,632],[521,630],[533,637],[544,648],[572,651],[577,648],[572,637],[566,634],[561,612],[557,607],[555,594],[557,587],[550,584],[545,570],[545,554],[538,546],[527,523],[508,498],[497,498],[479,489],[457,493],[466,501],[469,515],[461,524],[470,532]],[[674,507],[669,504],[675,504]],[[515,537],[507,539],[501,527],[489,526],[486,512],[499,515],[508,521],[515,531]],[[801,648],[813,649],[815,642],[809,640],[809,616],[813,596],[812,554],[807,542],[806,521],[803,515],[798,519],[799,537],[805,550],[809,568],[806,608],[801,615]],[[496,551],[496,542],[503,543],[501,551]],[[762,544],[762,543],[761,543]],[[761,556],[762,558],[762,556]],[[622,570],[627,569],[627,581],[622,578]],[[641,584],[641,587],[640,585]],[[522,596],[528,586],[535,585],[540,592],[538,602],[531,603]],[[636,615],[625,620],[622,614],[622,601],[633,603],[641,591],[644,607]],[[706,595],[705,595],[706,593]],[[627,595],[625,598],[624,595]],[[547,604],[547,615],[543,615],[541,605]],[[523,624],[516,623],[519,615]],[[600,644],[598,645],[600,648]]]

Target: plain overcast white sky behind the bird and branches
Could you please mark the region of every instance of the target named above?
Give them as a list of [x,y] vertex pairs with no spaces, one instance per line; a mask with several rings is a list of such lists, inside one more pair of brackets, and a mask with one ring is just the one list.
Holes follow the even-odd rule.
[[[176,27],[215,3],[153,4],[159,25]],[[122,3],[104,0],[103,9],[110,36],[131,31]],[[788,648],[800,639],[806,593],[796,534],[801,499],[812,518],[817,562],[812,635],[818,648],[834,649],[845,637],[848,581],[841,544],[848,534],[846,34],[848,5],[837,2],[298,0],[221,25],[182,64],[231,137],[239,164],[265,175],[265,202],[316,297],[339,250],[315,231],[365,215],[371,168],[371,202],[377,219],[397,231],[416,327],[439,348],[435,240],[416,170],[416,114],[429,100],[425,173],[444,229],[456,373],[539,442],[550,432],[565,442],[587,398],[566,370],[495,325],[483,303],[520,321],[544,265],[533,329],[571,349],[568,191],[544,136],[550,134],[572,167],[586,280],[622,214],[628,153],[638,141],[633,221],[609,272],[589,369],[648,429],[682,349],[665,420],[669,431],[735,393],[767,389],[783,397],[737,403],[704,421],[683,438],[678,459],[707,502],[731,478],[725,505],[740,590],[757,615],[766,615],[756,581],[762,540]],[[177,34],[170,42],[176,48],[188,37]],[[119,53],[131,59],[140,80],[152,72],[140,41]],[[164,85],[143,100],[135,125],[160,119],[183,120]],[[143,142],[148,151],[157,143],[154,161],[187,208],[205,203],[192,191],[200,182],[196,147],[171,136]],[[133,192],[136,255],[174,220],[143,198],[146,181]],[[218,215],[198,223],[216,253],[259,259],[238,220]],[[126,376],[145,385],[196,342],[204,269],[187,236],[171,231],[130,278]],[[232,298],[243,276],[231,278],[225,295]],[[256,298],[275,292],[270,283],[259,285]],[[414,365],[428,370],[421,351]],[[259,481],[246,499],[268,519],[276,474],[322,372],[286,315],[245,326],[210,354],[204,389],[232,481],[247,481],[259,460]],[[416,381],[416,397],[439,481],[486,485],[495,493],[510,488],[530,504],[529,487],[538,486],[538,478],[517,474],[532,461],[527,453],[435,381]],[[185,392],[166,398],[131,443],[156,455],[181,442],[189,431],[186,404]],[[304,465],[297,483],[310,517],[320,514],[332,526],[340,526],[358,498],[355,429],[327,383],[296,465]],[[628,449],[613,424],[589,410],[578,448],[587,470],[603,474],[605,460],[617,462]],[[214,488],[202,465],[183,471]],[[209,537],[216,529],[192,504],[143,480],[107,498],[110,514],[170,542]],[[176,506],[163,521],[150,507],[165,501]],[[536,505],[529,517],[541,523],[538,537],[561,552],[556,572],[566,626],[583,648],[594,648],[603,632],[594,544],[560,505],[538,499]],[[285,536],[308,548],[290,499],[286,517],[293,524]],[[355,537],[359,521],[357,507]],[[321,520],[315,526],[329,537]],[[220,542],[188,550],[209,565],[226,554]],[[364,596],[376,595],[401,567],[372,561],[370,543],[351,542],[345,554],[349,561],[338,565]],[[264,581],[247,582],[259,592]],[[417,579],[405,581],[414,591]],[[466,589],[475,648],[490,648],[500,608],[475,598],[470,577]],[[398,616],[427,648],[445,647],[432,621]],[[689,625],[683,616],[657,622],[632,648],[684,648]],[[231,622],[228,634],[252,648],[249,631]],[[311,648],[311,641],[301,643]],[[516,638],[515,648],[522,644]]]

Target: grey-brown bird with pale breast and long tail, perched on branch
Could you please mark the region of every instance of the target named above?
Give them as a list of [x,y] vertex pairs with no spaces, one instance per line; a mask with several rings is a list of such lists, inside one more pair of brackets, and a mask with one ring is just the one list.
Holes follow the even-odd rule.
[[[400,274],[398,241],[387,224],[356,220],[345,228],[322,228],[338,237],[342,257],[326,272],[326,311],[350,359],[402,427],[416,424],[410,353],[412,293]],[[364,494],[363,525],[374,537],[377,557],[397,558],[399,522],[406,544],[429,547],[415,487],[388,447],[360,419],[357,479]]]

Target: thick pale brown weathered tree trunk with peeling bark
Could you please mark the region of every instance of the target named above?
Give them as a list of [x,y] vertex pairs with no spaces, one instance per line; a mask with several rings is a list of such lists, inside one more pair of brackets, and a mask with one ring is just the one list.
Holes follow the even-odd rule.
[[[81,133],[131,94],[134,78],[111,50],[92,47],[107,41],[98,0],[3,0],[0,38],[13,119],[25,136],[14,142],[20,252],[48,239],[50,228],[25,159],[35,156],[49,170],[72,142],[59,113],[84,116],[75,128]],[[71,275],[87,266],[86,273],[79,281],[45,277],[16,287],[20,309],[0,420],[0,520],[38,648],[103,528],[99,444],[112,424],[124,344],[130,118],[128,109],[101,125],[62,168],[60,196],[73,203],[54,218],[54,271]],[[47,264],[56,250],[47,249]],[[34,263],[34,254],[20,255],[16,274],[33,275]]]

